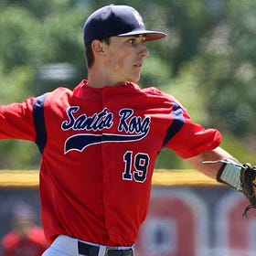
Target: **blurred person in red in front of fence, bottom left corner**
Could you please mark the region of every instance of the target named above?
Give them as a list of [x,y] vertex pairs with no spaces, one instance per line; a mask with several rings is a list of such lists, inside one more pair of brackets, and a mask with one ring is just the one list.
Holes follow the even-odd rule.
[[48,246],[34,210],[19,204],[13,211],[13,229],[2,240],[3,256],[40,256]]

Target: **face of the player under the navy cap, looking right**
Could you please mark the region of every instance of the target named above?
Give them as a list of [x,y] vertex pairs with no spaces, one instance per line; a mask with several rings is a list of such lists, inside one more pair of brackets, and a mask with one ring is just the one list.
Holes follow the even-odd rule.
[[144,42],[144,36],[111,37],[106,69],[113,84],[140,80],[144,58],[149,55]]

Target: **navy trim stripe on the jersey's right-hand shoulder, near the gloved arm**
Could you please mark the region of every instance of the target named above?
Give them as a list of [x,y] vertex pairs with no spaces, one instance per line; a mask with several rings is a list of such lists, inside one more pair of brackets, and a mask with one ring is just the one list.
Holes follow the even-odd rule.
[[184,124],[184,116],[183,116],[182,108],[176,102],[174,102],[172,115],[173,115],[174,121],[166,132],[163,147],[181,129],[181,127]]

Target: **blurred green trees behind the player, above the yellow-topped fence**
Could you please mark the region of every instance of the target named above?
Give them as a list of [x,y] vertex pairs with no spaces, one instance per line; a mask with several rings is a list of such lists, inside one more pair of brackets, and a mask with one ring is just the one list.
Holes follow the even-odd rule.
[[[86,78],[83,23],[103,0],[2,0],[0,104],[23,101]],[[256,164],[256,1],[129,0],[149,29],[168,37],[149,42],[140,85],[173,94],[192,118],[223,133],[223,147]],[[67,74],[70,73],[70,76]],[[64,75],[64,76],[63,76]],[[66,75],[66,76],[65,76]],[[69,79],[68,79],[69,78]],[[37,147],[0,143],[0,168],[37,168]],[[185,168],[166,150],[157,168]]]

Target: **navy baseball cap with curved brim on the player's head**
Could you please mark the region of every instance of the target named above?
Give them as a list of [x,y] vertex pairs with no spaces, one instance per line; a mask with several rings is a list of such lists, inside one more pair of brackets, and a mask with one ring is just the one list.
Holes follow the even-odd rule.
[[84,24],[84,44],[94,39],[144,35],[146,41],[166,37],[159,31],[145,30],[142,16],[128,5],[106,5],[96,10]]

